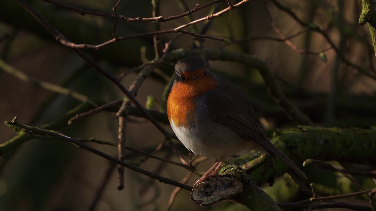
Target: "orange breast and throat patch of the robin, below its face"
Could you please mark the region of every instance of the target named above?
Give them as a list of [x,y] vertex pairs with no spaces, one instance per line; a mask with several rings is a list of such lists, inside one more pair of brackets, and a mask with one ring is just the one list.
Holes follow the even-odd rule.
[[188,126],[196,122],[194,111],[197,108],[196,98],[215,87],[217,81],[213,77],[190,80],[186,83],[178,81],[171,89],[167,99],[168,120],[174,121],[177,127]]

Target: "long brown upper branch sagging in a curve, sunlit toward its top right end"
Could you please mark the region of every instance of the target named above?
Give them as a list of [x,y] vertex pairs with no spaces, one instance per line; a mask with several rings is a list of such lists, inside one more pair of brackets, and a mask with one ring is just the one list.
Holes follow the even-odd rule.
[[[50,0],[48,0],[50,1]],[[115,43],[115,42],[118,42],[118,41],[121,41],[121,40],[124,40],[124,39],[130,39],[130,38],[136,38],[136,37],[143,37],[143,36],[150,36],[150,35],[161,35],[161,34],[166,34],[166,33],[177,33],[179,32],[180,30],[188,27],[188,26],[191,26],[193,24],[196,24],[196,23],[200,23],[202,21],[205,21],[205,20],[211,20],[212,18],[215,18],[215,17],[218,17],[218,16],[221,16],[222,14],[234,9],[234,8],[237,8],[238,6],[244,4],[244,3],[247,3],[249,2],[250,0],[242,0],[241,2],[237,3],[236,5],[233,5],[232,7],[227,7],[225,9],[223,9],[222,11],[220,12],[217,12],[215,14],[211,14],[211,15],[208,15],[206,17],[203,17],[203,18],[200,18],[200,19],[197,19],[195,21],[191,21],[190,23],[187,23],[187,24],[184,24],[182,26],[179,26],[179,27],[176,27],[174,29],[166,29],[166,30],[159,30],[159,31],[154,31],[154,32],[146,32],[146,33],[140,33],[140,34],[135,34],[135,35],[127,35],[127,36],[123,36],[123,37],[118,37],[117,39],[113,38],[109,41],[106,41],[106,42],[103,42],[102,44],[97,44],[97,45],[93,45],[93,44],[76,44],[74,42],[70,42],[68,41],[67,38],[65,38],[64,36],[62,36],[60,33],[59,36],[55,36],[56,40],[59,41],[62,45],[65,45],[67,47],[70,47],[70,48],[77,48],[77,49],[80,49],[80,48],[94,48],[96,50],[98,50],[99,48],[102,48],[102,47],[105,47],[109,44],[112,44],[112,43]],[[24,0],[18,0],[18,2],[24,2]],[[22,3],[23,4],[23,3]],[[24,5],[24,4],[23,4]],[[30,7],[31,8],[31,7]],[[26,9],[26,8],[25,8]],[[29,11],[29,9],[27,9]],[[30,11],[29,11],[30,12]],[[39,15],[39,14],[38,14]],[[40,15],[39,15],[40,16]],[[35,17],[36,18],[36,17]],[[42,17],[40,17],[42,18]],[[39,19],[40,19],[39,18]],[[39,21],[39,23],[41,23]],[[43,23],[41,23],[42,25],[45,25]],[[49,24],[50,25],[50,24]],[[52,27],[52,26],[51,26]],[[50,28],[50,27],[49,27]],[[57,31],[55,29],[55,31]],[[53,33],[52,31],[50,31],[51,33]],[[54,33],[53,33],[54,34]]]

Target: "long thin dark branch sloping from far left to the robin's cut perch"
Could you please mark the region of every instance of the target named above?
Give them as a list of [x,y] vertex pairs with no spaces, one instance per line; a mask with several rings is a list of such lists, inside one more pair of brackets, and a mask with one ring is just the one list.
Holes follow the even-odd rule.
[[11,122],[5,122],[6,125],[15,125],[17,127],[20,127],[20,128],[23,128],[25,129],[26,131],[32,131],[32,132],[35,132],[35,133],[39,133],[39,134],[46,134],[46,135],[50,135],[50,136],[55,136],[55,137],[58,137],[59,139],[63,139],[63,140],[66,140],[68,142],[71,142],[75,145],[78,145],[80,148],[82,149],[85,149],[87,151],[90,151],[96,155],[99,155],[100,157],[103,157],[109,161],[112,161],[114,163],[117,163],[117,164],[120,164],[128,169],[131,169],[131,170],[134,170],[135,172],[138,172],[138,173],[141,173],[143,175],[146,175],[146,176],[149,176],[150,178],[153,178],[153,179],[158,179],[159,181],[165,183],[165,184],[170,184],[170,185],[174,185],[174,186],[177,186],[177,187],[181,187],[185,190],[189,190],[191,191],[192,190],[192,187],[188,186],[188,185],[185,185],[185,184],[182,184],[180,182],[177,182],[177,181],[174,181],[172,179],[168,179],[168,178],[165,178],[165,177],[162,177],[160,175],[157,175],[155,173],[152,173],[152,172],[149,172],[147,170],[144,170],[144,169],[141,169],[137,166],[133,166],[132,164],[129,164],[129,163],[126,163],[124,161],[121,161],[117,158],[114,158],[104,152],[101,152],[97,149],[94,149],[92,148],[91,146],[89,145],[86,145],[85,143],[82,143],[82,142],[79,142],[75,139],[72,139],[71,137],[68,137],[68,136],[65,136],[61,133],[56,133],[55,131],[49,131],[49,130],[44,130],[42,128],[37,128],[37,127],[30,127],[30,126],[27,126],[27,125],[23,125],[23,124],[20,124],[17,122],[17,117],[15,117]]

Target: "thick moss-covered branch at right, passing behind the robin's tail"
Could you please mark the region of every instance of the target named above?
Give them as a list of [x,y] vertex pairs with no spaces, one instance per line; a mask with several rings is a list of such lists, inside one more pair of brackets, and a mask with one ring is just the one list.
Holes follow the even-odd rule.
[[[303,167],[303,161],[309,158],[376,164],[376,127],[360,129],[300,126],[283,131],[273,137],[271,142],[275,142],[274,145],[299,167]],[[288,165],[283,160],[262,155],[261,152],[247,154],[229,162],[241,166],[257,184],[273,181],[288,170]]]

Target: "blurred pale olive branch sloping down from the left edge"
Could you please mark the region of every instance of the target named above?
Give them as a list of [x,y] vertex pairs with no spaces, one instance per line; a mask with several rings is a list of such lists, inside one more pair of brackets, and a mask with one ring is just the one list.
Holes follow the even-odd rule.
[[[23,72],[19,71],[18,69],[14,68],[13,66],[9,65],[8,63],[6,63],[2,59],[0,59],[0,68],[3,69],[9,75],[13,75],[14,77],[20,79],[21,81],[30,83],[33,86],[36,86],[36,87],[39,87],[39,88],[42,88],[42,89],[45,89],[45,90],[48,90],[48,91],[51,91],[51,92],[59,93],[61,95],[70,96],[70,97],[77,99],[79,101],[82,101],[82,102],[88,101],[87,96],[82,95],[82,94],[80,94],[76,91],[67,89],[67,88],[62,87],[62,86],[58,86],[56,84],[48,83],[48,82],[45,82],[45,81],[40,81],[40,80],[37,80],[35,78],[29,77],[26,74],[24,74]],[[92,104],[94,104],[94,103],[92,103]]]

